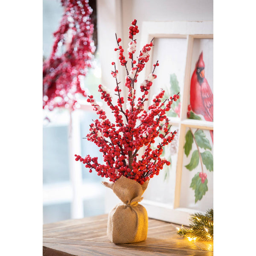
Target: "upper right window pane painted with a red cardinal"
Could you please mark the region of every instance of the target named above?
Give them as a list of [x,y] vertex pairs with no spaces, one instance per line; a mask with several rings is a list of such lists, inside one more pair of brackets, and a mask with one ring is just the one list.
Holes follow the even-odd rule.
[[213,39],[194,39],[188,118],[213,121]]

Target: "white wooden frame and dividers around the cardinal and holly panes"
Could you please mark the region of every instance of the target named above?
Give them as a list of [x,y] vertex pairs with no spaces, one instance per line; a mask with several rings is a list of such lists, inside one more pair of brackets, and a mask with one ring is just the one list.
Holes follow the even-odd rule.
[[[194,38],[213,38],[212,21],[170,21],[170,22],[143,22],[141,29],[141,47],[151,41],[152,38],[186,38],[186,68],[184,86],[180,91],[181,108],[180,121],[170,117],[170,123],[179,127],[179,147],[176,168],[175,199],[173,205],[158,203],[151,200],[143,200],[142,204],[148,212],[148,217],[177,224],[189,225],[189,215],[197,212],[195,209],[180,208],[180,189],[182,176],[182,163],[184,154],[184,143],[186,127],[213,130],[213,122],[204,120],[187,119],[187,106],[189,105],[187,95],[190,88],[190,70],[192,60],[192,47]],[[151,72],[152,58],[141,74],[146,77]]]

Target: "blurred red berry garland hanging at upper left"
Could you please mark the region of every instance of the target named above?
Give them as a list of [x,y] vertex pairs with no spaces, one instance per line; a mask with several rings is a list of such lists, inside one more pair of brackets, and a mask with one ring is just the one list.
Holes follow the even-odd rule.
[[87,96],[80,79],[86,75],[86,68],[91,67],[95,51],[90,18],[93,10],[88,0],[61,0],[61,3],[64,15],[53,34],[52,53],[43,64],[43,108],[49,110],[75,109],[76,93]]

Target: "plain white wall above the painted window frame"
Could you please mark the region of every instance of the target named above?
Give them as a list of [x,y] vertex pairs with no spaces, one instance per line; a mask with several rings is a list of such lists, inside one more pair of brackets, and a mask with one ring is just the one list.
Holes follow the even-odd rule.
[[[137,19],[143,21],[213,20],[213,0],[121,0],[124,45],[129,43],[128,27]],[[141,33],[136,35],[140,42]],[[146,44],[147,42],[145,42]]]

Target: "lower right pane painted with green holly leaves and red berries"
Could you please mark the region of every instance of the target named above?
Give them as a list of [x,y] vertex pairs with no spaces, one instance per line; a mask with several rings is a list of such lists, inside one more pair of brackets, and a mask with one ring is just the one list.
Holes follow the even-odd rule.
[[208,130],[186,128],[180,207],[213,208],[213,144]]

